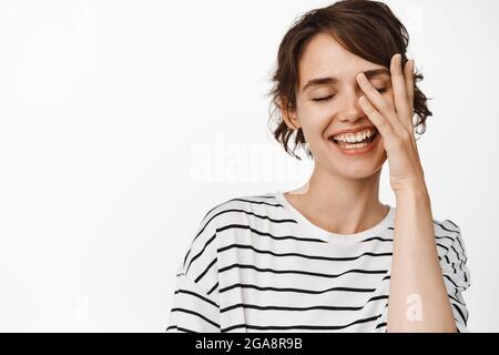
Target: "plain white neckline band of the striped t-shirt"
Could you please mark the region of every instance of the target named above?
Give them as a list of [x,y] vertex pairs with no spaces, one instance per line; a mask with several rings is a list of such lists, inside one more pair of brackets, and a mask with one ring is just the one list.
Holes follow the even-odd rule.
[[308,233],[318,236],[325,242],[329,243],[358,243],[366,237],[379,236],[386,229],[393,225],[395,219],[395,209],[390,204],[385,204],[389,207],[388,213],[375,226],[354,234],[339,234],[326,231],[318,225],[312,223],[298,210],[293,206],[284,196],[284,192],[275,192],[275,199],[286,209],[286,211],[304,227]]

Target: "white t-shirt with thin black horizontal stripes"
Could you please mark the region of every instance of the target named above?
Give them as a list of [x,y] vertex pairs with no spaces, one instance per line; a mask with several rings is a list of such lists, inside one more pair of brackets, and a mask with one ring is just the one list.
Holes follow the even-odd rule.
[[[386,332],[396,209],[336,234],[283,192],[227,200],[206,213],[176,273],[166,332]],[[434,219],[458,332],[470,285],[460,229]]]

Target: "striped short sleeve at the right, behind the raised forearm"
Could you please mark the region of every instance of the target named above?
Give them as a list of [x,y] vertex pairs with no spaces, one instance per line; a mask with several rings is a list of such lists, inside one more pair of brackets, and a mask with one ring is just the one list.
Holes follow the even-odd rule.
[[449,220],[442,222],[444,229],[452,239],[444,257],[440,257],[440,267],[444,282],[452,307],[454,318],[459,333],[469,333],[468,310],[462,293],[471,285],[470,272],[467,266],[467,253],[465,241],[459,226]]

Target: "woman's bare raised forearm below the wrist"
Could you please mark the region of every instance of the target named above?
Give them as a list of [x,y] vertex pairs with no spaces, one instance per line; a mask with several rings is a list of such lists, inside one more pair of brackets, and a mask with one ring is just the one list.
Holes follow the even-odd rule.
[[456,333],[425,183],[397,191],[387,332]]

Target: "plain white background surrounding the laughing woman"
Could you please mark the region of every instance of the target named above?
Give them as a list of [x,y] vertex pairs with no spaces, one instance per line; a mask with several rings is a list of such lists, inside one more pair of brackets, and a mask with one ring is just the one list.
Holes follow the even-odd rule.
[[[163,332],[202,216],[308,178],[265,93],[293,20],[328,3],[0,1],[0,331]],[[499,2],[387,3],[432,98],[418,145],[466,241],[468,326],[498,332]]]

